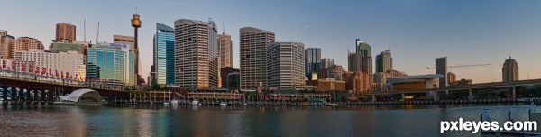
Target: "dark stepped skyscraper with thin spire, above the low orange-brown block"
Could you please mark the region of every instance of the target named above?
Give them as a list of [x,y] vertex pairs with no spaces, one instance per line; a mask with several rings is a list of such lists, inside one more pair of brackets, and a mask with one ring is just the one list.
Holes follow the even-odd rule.
[[355,43],[355,53],[348,53],[348,71],[372,74],[371,46],[359,39]]

